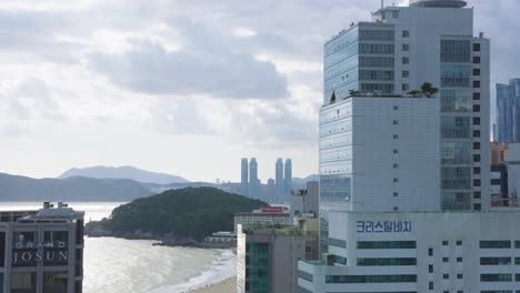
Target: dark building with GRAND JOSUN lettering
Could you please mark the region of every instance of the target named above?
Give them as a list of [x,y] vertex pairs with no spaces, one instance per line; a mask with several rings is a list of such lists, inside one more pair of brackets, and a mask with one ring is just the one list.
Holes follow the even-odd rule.
[[0,292],[81,293],[83,212],[49,202],[0,212]]

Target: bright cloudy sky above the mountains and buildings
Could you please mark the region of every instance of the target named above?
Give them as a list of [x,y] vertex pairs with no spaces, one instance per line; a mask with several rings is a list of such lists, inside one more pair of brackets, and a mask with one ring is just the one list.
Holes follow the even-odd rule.
[[[468,2],[491,38],[491,84],[519,78],[520,1]],[[134,165],[239,181],[240,159],[256,156],[262,182],[277,158],[318,173],[322,44],[379,6],[2,0],[0,172]]]

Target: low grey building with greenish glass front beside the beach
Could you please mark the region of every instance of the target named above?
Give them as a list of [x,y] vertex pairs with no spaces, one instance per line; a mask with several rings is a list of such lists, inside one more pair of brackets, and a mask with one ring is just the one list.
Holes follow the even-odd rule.
[[[310,225],[307,225],[307,221]],[[298,261],[319,257],[317,219],[296,226],[239,225],[238,293],[298,293]]]

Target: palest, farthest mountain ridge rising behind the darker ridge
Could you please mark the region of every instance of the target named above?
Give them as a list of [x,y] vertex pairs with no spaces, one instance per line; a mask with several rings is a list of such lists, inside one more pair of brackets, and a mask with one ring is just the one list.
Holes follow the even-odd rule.
[[154,173],[141,170],[131,165],[126,166],[89,166],[89,168],[73,168],[59,175],[59,179],[71,176],[86,176],[96,179],[130,179],[138,182],[169,184],[169,183],[187,183],[188,180],[163,173]]

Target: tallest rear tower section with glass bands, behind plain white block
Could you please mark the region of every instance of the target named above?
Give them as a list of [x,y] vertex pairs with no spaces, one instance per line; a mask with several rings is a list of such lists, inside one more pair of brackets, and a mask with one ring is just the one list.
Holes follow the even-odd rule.
[[[324,44],[324,104],[360,94],[439,88],[443,210],[486,210],[489,199],[489,40],[473,37],[464,1],[387,7]],[[486,122],[486,123],[483,123]],[[480,170],[480,171],[479,171]],[[484,206],[486,205],[486,206]]]

